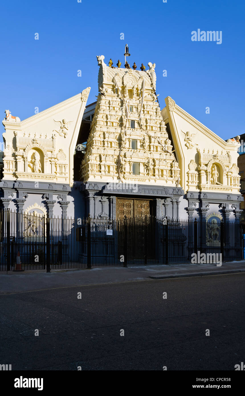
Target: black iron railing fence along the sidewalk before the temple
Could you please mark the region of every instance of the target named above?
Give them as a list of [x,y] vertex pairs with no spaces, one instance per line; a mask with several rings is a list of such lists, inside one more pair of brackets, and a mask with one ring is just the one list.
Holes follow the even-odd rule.
[[242,224],[0,211],[2,271],[185,263],[195,254],[201,263],[220,254],[222,261],[243,259]]

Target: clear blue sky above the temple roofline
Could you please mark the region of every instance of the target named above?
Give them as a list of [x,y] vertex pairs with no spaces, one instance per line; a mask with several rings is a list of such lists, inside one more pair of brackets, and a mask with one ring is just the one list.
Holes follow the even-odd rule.
[[[1,120],[5,109],[24,120],[87,86],[94,102],[96,55],[124,65],[127,42],[131,66],[156,63],[161,109],[171,96],[224,139],[245,132],[244,0],[12,0],[1,9]],[[222,30],[222,44],[193,42],[198,29]]]

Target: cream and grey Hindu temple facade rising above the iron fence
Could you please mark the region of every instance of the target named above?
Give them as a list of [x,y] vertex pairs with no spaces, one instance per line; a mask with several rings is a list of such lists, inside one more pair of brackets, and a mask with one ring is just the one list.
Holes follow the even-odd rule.
[[155,64],[99,65],[90,88],[21,121],[3,120],[2,208],[49,217],[239,221],[237,149],[181,109],[160,109]]

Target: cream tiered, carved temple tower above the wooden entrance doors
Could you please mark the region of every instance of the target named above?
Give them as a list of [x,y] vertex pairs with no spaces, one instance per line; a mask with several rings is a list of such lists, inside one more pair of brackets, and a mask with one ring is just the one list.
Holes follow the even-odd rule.
[[81,180],[178,187],[180,169],[156,96],[155,64],[149,70],[106,66],[97,57],[99,95]]

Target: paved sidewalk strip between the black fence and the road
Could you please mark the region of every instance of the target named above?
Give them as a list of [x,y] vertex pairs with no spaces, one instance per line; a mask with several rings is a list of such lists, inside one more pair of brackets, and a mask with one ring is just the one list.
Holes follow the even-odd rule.
[[53,270],[0,273],[0,294],[55,289],[60,287],[182,278],[245,272],[245,260],[212,264],[134,265],[123,267],[96,267],[91,270]]

